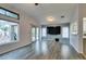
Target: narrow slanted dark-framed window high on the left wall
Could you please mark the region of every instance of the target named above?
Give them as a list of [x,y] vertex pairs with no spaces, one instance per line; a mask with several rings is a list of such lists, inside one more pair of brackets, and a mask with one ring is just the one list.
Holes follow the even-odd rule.
[[12,11],[9,11],[7,9],[0,8],[0,14],[9,16],[9,17],[13,17],[13,18],[20,18],[19,14]]

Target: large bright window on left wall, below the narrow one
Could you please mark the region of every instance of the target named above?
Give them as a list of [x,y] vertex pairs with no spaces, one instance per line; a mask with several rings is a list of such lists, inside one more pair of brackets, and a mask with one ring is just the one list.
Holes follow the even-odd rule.
[[19,40],[19,24],[0,20],[0,43],[9,43]]

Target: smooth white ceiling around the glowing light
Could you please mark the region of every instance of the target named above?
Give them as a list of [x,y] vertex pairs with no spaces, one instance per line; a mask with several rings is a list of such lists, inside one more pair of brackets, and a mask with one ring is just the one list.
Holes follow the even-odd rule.
[[[12,5],[37,18],[42,25],[70,23],[76,9],[74,3],[39,3],[39,5],[34,3],[14,3]],[[64,18],[61,18],[62,15],[64,15]],[[47,16],[53,16],[54,21],[48,22],[46,20]]]

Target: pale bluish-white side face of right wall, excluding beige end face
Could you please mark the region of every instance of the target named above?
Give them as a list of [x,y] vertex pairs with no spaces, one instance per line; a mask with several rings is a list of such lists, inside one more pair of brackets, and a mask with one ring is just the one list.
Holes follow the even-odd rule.
[[78,8],[75,9],[74,15],[72,16],[71,23],[70,23],[70,43],[74,47],[74,49],[78,52],[78,35],[72,34],[72,27],[74,23],[78,23]]

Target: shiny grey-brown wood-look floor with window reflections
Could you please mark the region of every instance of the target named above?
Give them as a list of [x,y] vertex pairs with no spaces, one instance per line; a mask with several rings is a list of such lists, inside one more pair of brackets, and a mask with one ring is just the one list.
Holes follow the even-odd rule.
[[83,57],[69,43],[44,40],[1,54],[0,60],[83,60]]

